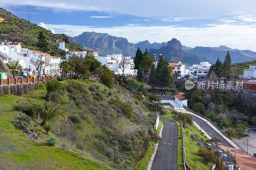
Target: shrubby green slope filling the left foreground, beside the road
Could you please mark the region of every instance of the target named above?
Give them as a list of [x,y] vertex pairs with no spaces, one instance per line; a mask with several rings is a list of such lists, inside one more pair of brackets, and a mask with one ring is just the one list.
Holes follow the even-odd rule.
[[[0,161],[2,167],[18,169],[129,169],[145,155],[154,140],[154,115],[137,97],[119,85],[108,88],[100,81],[66,80],[66,92],[51,94],[65,112],[53,118],[49,136],[57,138],[48,145],[40,120],[33,117],[28,126],[39,134],[37,141],[15,128],[17,112],[13,104],[31,107],[46,94],[43,84],[24,96],[0,96]],[[125,113],[132,107],[132,117]],[[31,115],[30,111],[25,111]],[[19,113],[19,115],[25,115]],[[33,114],[32,114],[33,115]],[[150,132],[150,133],[148,133]],[[153,132],[153,133],[152,133]],[[53,168],[54,167],[54,168]]]

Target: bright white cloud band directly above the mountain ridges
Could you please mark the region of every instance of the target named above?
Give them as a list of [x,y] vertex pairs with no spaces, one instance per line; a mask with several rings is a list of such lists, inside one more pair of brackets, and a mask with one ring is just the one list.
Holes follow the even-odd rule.
[[[137,43],[148,40],[152,42],[166,42],[177,38],[183,45],[193,46],[219,46],[225,44],[230,48],[250,49],[256,51],[256,24],[232,25],[209,24],[204,28],[184,26],[142,26],[139,24],[127,24],[114,27],[52,25],[40,23],[48,29],[54,29],[56,33],[65,33],[69,36],[77,36],[85,31],[108,33],[117,37],[127,38],[129,42]],[[243,39],[243,40],[242,40]],[[246,41],[244,41],[244,39]],[[212,45],[209,45],[212,44]]]

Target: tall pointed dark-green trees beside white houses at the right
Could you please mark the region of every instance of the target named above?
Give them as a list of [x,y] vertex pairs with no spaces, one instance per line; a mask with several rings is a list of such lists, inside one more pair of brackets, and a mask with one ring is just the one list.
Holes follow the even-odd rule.
[[209,74],[211,74],[212,71],[215,72],[218,78],[220,78],[221,76],[226,76],[226,78],[228,78],[229,74],[231,73],[231,56],[229,54],[229,51],[227,52],[223,63],[218,58],[216,60],[216,63],[212,64],[209,70]]

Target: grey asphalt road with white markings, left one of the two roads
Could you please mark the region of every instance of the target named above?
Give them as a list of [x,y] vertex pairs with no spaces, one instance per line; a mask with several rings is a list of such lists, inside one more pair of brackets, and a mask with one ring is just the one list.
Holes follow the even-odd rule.
[[162,140],[159,141],[151,170],[178,170],[178,127],[174,120],[160,116],[164,122]]

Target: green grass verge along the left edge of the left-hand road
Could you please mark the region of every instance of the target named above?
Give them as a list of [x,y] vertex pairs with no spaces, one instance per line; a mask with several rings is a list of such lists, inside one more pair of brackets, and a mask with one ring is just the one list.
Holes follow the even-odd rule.
[[[159,122],[161,123],[161,126],[156,129],[158,135],[159,135],[159,133],[160,133],[161,127],[162,127],[163,124],[164,124],[163,121],[160,121],[160,120],[159,120]],[[137,165],[135,166],[135,169],[136,169],[136,170],[144,170],[144,169],[147,169],[147,167],[148,167],[148,162],[150,161],[151,156],[152,156],[152,153],[153,153],[153,151],[154,151],[154,149],[155,149],[155,147],[156,147],[155,145],[152,145],[152,144],[155,144],[154,141],[149,142],[149,144],[150,144],[150,145],[148,146],[148,150],[147,150],[147,152],[146,152],[146,155],[145,155],[144,158],[141,159],[141,160],[137,163]]]

